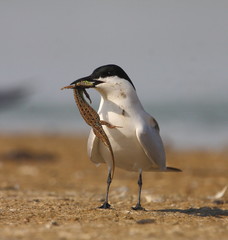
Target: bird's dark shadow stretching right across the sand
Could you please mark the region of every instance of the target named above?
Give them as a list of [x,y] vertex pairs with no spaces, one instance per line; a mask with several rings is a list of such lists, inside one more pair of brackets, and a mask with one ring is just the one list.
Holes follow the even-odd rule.
[[165,213],[184,213],[188,215],[194,215],[198,217],[223,217],[228,216],[228,210],[223,210],[217,207],[201,207],[201,208],[188,208],[188,209],[160,209],[155,210],[156,212]]

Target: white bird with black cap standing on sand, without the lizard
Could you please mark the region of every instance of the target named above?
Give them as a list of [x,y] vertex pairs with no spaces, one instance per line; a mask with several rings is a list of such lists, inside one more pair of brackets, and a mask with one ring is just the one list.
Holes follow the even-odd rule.
[[[133,209],[144,210],[141,206],[142,171],[181,170],[166,167],[158,123],[144,110],[132,81],[122,68],[114,64],[101,66],[91,75],[77,81],[81,80],[93,82],[93,87],[101,94],[98,110],[100,119],[120,126],[118,128],[104,126],[103,129],[113,149],[115,166],[139,172],[138,202]],[[87,149],[92,162],[106,163],[108,166],[106,199],[100,208],[110,208],[108,194],[113,168],[111,154],[95,136],[93,130],[89,135]]]

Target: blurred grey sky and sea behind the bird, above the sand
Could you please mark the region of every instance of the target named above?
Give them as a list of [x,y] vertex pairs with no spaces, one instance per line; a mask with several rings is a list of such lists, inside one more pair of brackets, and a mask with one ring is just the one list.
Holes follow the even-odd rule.
[[88,134],[60,88],[115,63],[167,144],[227,146],[227,11],[226,0],[0,1],[0,134]]

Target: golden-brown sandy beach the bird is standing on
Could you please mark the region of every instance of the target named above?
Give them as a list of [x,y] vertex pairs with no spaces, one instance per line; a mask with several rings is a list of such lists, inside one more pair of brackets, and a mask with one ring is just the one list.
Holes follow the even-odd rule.
[[[228,152],[174,150],[168,165],[182,173],[137,174],[116,169],[112,209],[101,210],[106,166],[86,154],[86,137],[0,136],[1,239],[227,239]],[[217,196],[216,196],[217,194]],[[222,194],[220,194],[222,195]]]

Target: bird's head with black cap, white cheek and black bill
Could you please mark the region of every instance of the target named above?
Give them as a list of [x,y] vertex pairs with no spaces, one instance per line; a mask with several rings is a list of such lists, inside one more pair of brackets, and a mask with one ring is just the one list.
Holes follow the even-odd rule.
[[86,88],[96,88],[103,96],[135,91],[135,87],[125,71],[114,64],[96,68],[91,75],[80,78],[71,84],[82,83]]

